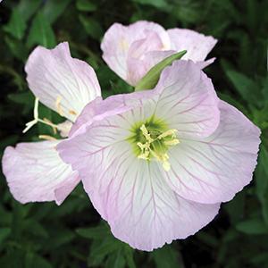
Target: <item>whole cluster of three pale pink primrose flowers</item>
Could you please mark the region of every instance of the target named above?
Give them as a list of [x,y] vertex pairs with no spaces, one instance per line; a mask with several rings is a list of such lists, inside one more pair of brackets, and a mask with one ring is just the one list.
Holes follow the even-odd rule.
[[155,88],[105,100],[95,72],[71,58],[66,43],[36,48],[26,64],[29,88],[67,121],[39,119],[37,100],[27,126],[41,121],[68,138],[5,149],[13,197],[61,204],[82,180],[113,235],[147,251],[211,222],[252,180],[260,143],[260,130],[218,98],[201,70],[214,61],[205,57],[215,43],[153,22],[113,24],[103,57],[132,86],[167,56],[187,54],[163,70]]

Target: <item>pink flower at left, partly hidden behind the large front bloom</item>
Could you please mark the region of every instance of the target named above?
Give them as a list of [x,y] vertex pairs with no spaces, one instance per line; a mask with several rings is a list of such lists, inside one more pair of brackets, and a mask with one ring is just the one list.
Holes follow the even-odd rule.
[[[37,97],[35,118],[26,130],[41,121],[66,137],[84,106],[101,95],[95,72],[88,63],[71,57],[68,43],[52,50],[38,46],[30,54],[25,71],[29,88]],[[38,99],[67,121],[54,125],[39,119]],[[60,205],[80,179],[55,149],[61,140],[41,138],[49,140],[7,147],[3,172],[13,197],[21,203],[55,200]]]

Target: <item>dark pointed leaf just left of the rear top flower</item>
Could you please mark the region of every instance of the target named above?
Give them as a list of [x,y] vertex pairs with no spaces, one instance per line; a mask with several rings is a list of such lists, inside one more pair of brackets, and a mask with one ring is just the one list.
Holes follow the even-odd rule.
[[85,15],[80,15],[79,18],[80,22],[82,23],[86,32],[91,38],[99,40],[104,35],[104,31],[100,23],[94,18]]

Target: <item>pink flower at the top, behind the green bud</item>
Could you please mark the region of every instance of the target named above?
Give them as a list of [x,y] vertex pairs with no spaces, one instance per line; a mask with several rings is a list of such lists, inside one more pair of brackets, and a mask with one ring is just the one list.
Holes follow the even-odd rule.
[[138,21],[130,26],[114,23],[101,44],[103,58],[122,80],[136,86],[156,63],[165,57],[187,50],[184,60],[192,60],[205,68],[214,58],[204,62],[217,40],[191,29],[163,29],[155,22]]

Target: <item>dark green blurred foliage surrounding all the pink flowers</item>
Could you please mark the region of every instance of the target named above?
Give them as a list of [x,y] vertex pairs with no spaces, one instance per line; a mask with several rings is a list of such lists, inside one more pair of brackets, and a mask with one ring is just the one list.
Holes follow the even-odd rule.
[[[254,180],[195,236],[151,253],[113,238],[81,186],[63,205],[21,205],[0,174],[0,267],[268,267],[268,1],[257,0],[4,0],[0,4],[0,157],[4,147],[53,134],[45,125],[22,135],[34,97],[24,64],[35,46],[68,41],[90,63],[104,96],[131,88],[101,58],[113,22],[148,20],[218,38],[205,71],[217,94],[262,129]],[[40,106],[41,117],[62,121]]]

